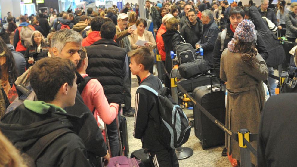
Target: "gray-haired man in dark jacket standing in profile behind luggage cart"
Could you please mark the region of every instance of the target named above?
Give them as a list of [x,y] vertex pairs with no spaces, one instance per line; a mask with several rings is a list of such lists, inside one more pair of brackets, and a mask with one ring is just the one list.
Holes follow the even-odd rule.
[[[201,15],[201,21],[203,24],[202,27],[202,36],[200,40],[196,43],[196,48],[203,48],[204,55],[203,58],[213,66],[212,52],[215,46],[215,41],[218,37],[220,29],[213,19],[213,13],[209,9],[204,10]],[[211,68],[212,70],[212,68]]]

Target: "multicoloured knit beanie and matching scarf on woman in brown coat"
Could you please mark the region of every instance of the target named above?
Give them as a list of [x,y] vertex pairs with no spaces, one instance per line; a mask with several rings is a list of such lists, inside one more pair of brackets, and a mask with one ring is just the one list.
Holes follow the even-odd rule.
[[235,41],[238,39],[242,42],[252,42],[255,40],[254,37],[255,25],[250,20],[243,20],[240,22],[235,29],[234,38],[228,43],[228,49],[231,52],[238,52],[235,50]]

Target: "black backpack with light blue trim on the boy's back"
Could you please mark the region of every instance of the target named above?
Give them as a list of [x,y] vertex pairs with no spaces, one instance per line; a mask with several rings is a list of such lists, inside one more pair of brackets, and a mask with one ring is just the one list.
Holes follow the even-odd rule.
[[173,104],[169,88],[156,91],[150,83],[142,83],[138,88],[152,92],[158,99],[160,126],[157,131],[160,142],[167,148],[181,147],[189,139],[191,126],[182,108]]

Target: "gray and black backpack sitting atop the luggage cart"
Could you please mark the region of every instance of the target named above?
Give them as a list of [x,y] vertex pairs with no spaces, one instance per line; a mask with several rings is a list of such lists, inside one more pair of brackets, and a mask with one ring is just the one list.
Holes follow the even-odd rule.
[[187,63],[196,60],[196,51],[189,43],[182,43],[175,48],[178,63]]

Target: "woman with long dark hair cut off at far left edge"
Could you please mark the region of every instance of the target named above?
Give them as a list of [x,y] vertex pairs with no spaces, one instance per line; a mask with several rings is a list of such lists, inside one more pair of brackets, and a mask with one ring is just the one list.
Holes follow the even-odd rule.
[[15,65],[14,57],[2,38],[0,38],[0,73],[2,88],[8,96],[9,89],[11,89],[11,86],[17,79],[18,71]]

